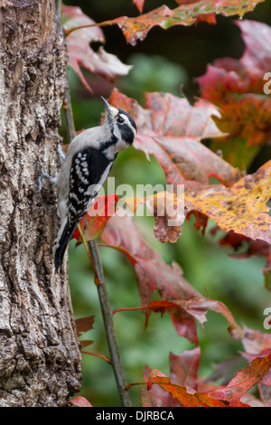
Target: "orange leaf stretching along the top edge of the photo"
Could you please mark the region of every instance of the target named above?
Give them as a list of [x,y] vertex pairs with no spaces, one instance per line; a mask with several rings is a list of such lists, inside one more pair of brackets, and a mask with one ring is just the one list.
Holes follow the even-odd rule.
[[[135,18],[121,16],[102,24],[117,24],[126,37],[126,41],[132,45],[145,39],[147,33],[156,25],[168,29],[173,25],[192,25],[206,20],[214,22],[214,14],[226,16],[238,14],[243,16],[254,10],[257,3],[264,0],[250,2],[248,0],[201,0],[199,2],[182,2],[175,9],[162,5],[147,14],[141,14]],[[184,4],[183,4],[184,3]]]

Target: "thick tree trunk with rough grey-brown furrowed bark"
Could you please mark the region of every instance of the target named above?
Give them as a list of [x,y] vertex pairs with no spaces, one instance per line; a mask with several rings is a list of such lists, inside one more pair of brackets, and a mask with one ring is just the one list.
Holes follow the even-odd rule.
[[66,52],[54,0],[0,0],[0,406],[62,406],[79,392],[67,265],[51,255]]

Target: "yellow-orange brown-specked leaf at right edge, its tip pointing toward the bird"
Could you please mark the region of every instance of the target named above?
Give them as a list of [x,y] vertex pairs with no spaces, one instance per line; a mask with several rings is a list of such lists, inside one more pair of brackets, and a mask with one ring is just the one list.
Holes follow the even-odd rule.
[[[271,161],[261,166],[254,175],[246,175],[236,184],[210,184],[194,190],[186,190],[184,198],[173,193],[158,193],[145,198],[123,199],[134,211],[145,203],[155,214],[154,235],[159,241],[176,241],[182,231],[184,218],[196,212],[204,214],[222,231],[235,231],[254,241],[271,244],[271,216],[266,203],[271,197]],[[159,203],[166,197],[169,211],[173,213],[173,228],[168,225],[168,215],[161,212]],[[175,216],[181,206],[181,213]],[[164,208],[164,202],[162,203]],[[175,222],[176,220],[176,222]],[[202,222],[204,223],[204,222]]]

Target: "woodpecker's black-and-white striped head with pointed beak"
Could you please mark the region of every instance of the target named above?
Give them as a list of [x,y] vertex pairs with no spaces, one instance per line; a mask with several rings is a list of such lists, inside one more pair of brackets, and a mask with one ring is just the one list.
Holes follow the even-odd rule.
[[126,149],[135,140],[136,126],[134,119],[125,110],[117,109],[109,105],[101,96],[106,107],[105,124],[109,127],[116,152]]

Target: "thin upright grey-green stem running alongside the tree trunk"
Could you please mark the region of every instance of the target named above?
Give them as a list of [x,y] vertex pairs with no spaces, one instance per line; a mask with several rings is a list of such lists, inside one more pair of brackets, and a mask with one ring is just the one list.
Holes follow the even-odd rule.
[[[60,1],[61,0],[58,0],[59,3]],[[60,10],[60,7],[58,7],[58,9]],[[67,77],[67,80],[68,80],[68,77]],[[75,130],[74,119],[73,119],[72,108],[71,108],[69,87],[66,90],[64,95],[63,108],[64,108],[64,116],[66,120],[67,135],[68,135],[69,142],[71,142],[71,140],[74,137],[76,137],[76,130]],[[84,236],[82,232],[81,232],[81,236],[84,241]],[[86,247],[86,241],[84,241],[84,244]],[[89,247],[89,250],[87,249],[88,247]],[[88,254],[90,253],[89,258],[91,258],[91,263],[95,271],[95,278],[96,278],[95,283],[98,288],[98,298],[100,302],[105,331],[107,335],[107,345],[108,345],[109,353],[111,356],[110,362],[112,364],[113,371],[115,373],[115,379],[117,382],[117,390],[119,393],[119,398],[123,407],[131,407],[132,403],[130,401],[129,393],[126,390],[126,377],[125,377],[123,365],[121,362],[121,358],[119,355],[119,350],[117,345],[117,336],[116,336],[116,331],[115,331],[114,322],[113,322],[112,308],[110,307],[110,303],[109,303],[107,287],[105,284],[104,270],[99,257],[97,242],[89,241],[88,247],[86,247],[86,249],[87,249],[87,252],[89,251]]]

